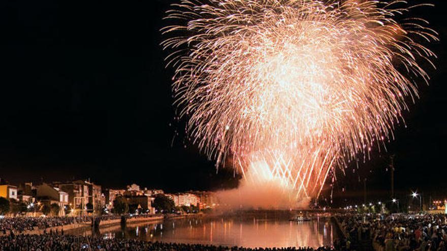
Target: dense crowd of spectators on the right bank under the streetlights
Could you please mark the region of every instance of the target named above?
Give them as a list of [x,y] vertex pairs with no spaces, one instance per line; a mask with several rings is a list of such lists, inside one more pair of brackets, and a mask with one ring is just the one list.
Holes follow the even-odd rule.
[[445,251],[445,214],[344,214],[337,216],[350,243],[376,251]]

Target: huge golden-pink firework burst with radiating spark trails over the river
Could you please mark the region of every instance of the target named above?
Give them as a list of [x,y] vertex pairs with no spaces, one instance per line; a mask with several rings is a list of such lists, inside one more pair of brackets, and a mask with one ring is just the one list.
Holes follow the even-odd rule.
[[[403,6],[403,7],[402,7]],[[162,43],[187,129],[217,166],[228,156],[297,198],[331,168],[380,148],[428,83],[437,33],[403,1],[182,0]],[[250,170],[247,172],[247,170]],[[247,177],[250,176],[250,177]]]

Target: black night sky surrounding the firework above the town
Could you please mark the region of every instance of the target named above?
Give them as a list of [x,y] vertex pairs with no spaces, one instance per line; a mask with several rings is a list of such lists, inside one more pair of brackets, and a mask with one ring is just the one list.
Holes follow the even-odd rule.
[[[168,191],[235,185],[233,171],[216,174],[173,120],[172,71],[159,46],[169,2],[0,2],[0,177],[91,177],[105,187],[138,183]],[[396,189],[447,190],[443,2],[417,13],[442,42],[430,47],[438,69],[430,70],[429,87],[421,83],[421,99],[405,114],[407,128],[397,129],[388,153],[373,154],[355,173],[350,166],[346,177],[339,173],[337,191],[361,191],[359,175],[371,191],[388,189],[391,154]]]

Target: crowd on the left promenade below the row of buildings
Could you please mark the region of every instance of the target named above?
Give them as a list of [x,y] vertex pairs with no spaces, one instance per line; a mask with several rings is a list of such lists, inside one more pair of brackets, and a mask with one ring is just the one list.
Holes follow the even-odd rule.
[[[127,214],[126,218],[147,217],[147,214]],[[101,221],[120,219],[121,216],[115,214],[106,214],[99,218]],[[63,225],[88,223],[91,222],[91,216],[80,217],[5,217],[0,219],[0,235],[8,234],[11,231],[15,233],[23,233],[34,229],[45,229],[51,227],[59,227]]]

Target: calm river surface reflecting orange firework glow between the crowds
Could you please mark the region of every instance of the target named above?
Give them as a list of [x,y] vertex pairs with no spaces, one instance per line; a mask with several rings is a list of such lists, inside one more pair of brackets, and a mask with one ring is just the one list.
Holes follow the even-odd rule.
[[[82,233],[91,234],[85,230]],[[318,247],[332,245],[336,231],[326,218],[309,222],[198,218],[101,228],[101,235],[105,238],[245,247]]]

